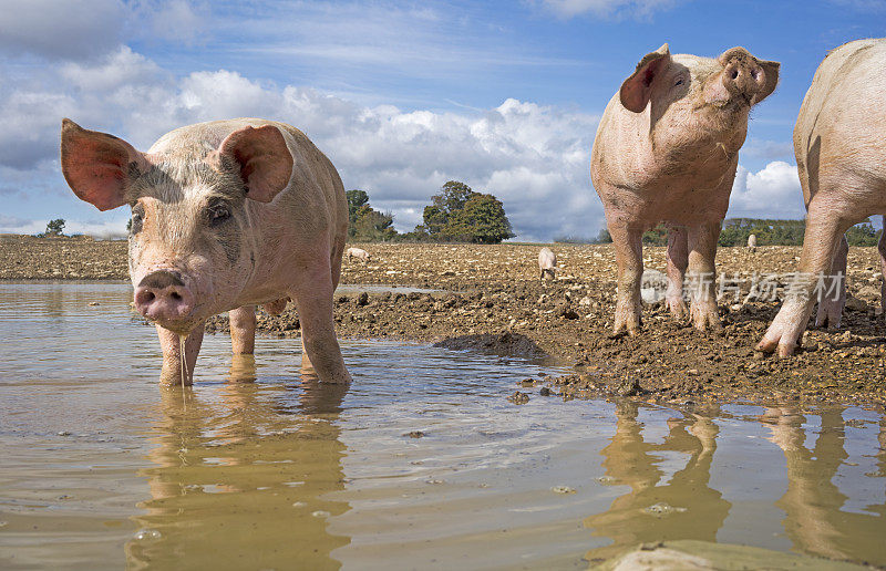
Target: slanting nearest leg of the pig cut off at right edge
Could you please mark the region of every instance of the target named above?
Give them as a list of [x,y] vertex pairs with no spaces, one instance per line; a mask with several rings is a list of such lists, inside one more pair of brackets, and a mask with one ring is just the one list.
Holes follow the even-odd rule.
[[789,286],[782,309],[756,345],[756,349],[767,353],[777,349],[779,356],[793,354],[812,314],[816,281],[831,269],[841,236],[851,226],[848,221],[838,218],[832,206],[820,206],[815,198],[810,204],[808,212],[800,271]]

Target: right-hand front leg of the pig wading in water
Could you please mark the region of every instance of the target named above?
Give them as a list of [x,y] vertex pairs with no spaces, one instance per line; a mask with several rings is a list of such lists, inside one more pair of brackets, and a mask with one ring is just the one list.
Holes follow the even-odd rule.
[[351,375],[341,359],[332,315],[332,274],[319,267],[299,276],[290,297],[301,322],[301,344],[307,355],[302,368],[313,368],[320,381],[350,383]]

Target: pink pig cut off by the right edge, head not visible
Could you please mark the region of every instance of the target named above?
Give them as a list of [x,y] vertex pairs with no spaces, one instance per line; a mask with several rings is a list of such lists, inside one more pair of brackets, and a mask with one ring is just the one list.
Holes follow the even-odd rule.
[[[758,344],[762,351],[780,356],[794,352],[812,314],[818,277],[832,269],[845,274],[844,232],[872,215],[886,214],[884,68],[886,40],[851,42],[824,59],[806,92],[794,127],[808,211],[800,279]],[[828,324],[838,323],[838,305],[823,308]]]

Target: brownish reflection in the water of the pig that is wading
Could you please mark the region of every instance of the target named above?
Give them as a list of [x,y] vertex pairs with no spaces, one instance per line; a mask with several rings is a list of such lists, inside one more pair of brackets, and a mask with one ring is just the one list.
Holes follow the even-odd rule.
[[349,506],[324,496],[344,487],[337,421],[347,386],[244,382],[255,377],[240,359],[215,398],[162,391],[155,466],[140,473],[151,499],[133,518],[143,532],[126,544],[128,567],[339,567],[329,553],[350,540],[327,532],[327,519]]

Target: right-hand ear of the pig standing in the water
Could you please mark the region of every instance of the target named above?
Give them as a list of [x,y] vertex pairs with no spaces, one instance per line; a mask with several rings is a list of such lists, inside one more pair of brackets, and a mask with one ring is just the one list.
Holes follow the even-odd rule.
[[240,165],[246,197],[259,203],[274,200],[292,176],[292,154],[280,129],[272,125],[235,131],[222,142],[218,154]]

